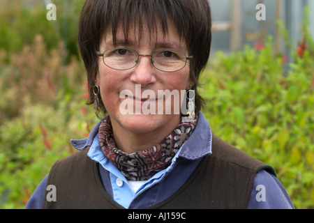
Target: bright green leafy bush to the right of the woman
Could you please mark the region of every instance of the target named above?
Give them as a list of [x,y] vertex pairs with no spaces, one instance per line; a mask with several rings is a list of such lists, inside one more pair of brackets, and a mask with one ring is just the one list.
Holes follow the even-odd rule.
[[218,53],[204,72],[204,111],[214,134],[277,171],[296,208],[314,208],[314,59],[284,75],[271,38],[260,52]]

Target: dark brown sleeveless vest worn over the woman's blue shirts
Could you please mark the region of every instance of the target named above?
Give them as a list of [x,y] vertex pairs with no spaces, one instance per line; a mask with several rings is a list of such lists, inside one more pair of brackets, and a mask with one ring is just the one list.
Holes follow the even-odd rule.
[[[89,149],[58,160],[47,185],[56,188],[57,201],[43,208],[123,208],[103,187],[98,164]],[[202,159],[190,178],[172,196],[148,208],[246,208],[257,171],[274,169],[213,135],[212,154]]]

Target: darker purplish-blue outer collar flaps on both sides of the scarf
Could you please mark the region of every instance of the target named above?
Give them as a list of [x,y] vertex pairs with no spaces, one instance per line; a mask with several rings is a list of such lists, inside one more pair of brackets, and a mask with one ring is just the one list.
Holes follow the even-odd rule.
[[[89,137],[87,137],[87,139],[71,139],[73,147],[78,151],[82,151],[85,148],[91,146],[91,144],[93,144],[94,138],[96,137],[96,134],[98,134],[98,129],[102,121],[103,120],[100,120],[95,125],[95,127],[89,133]],[[211,141],[211,128],[207,122],[207,119],[204,117],[204,114],[200,112],[196,128],[190,135],[188,141],[186,141],[186,143],[182,146],[179,157],[184,157],[188,160],[197,160],[204,155],[209,155],[211,154]]]

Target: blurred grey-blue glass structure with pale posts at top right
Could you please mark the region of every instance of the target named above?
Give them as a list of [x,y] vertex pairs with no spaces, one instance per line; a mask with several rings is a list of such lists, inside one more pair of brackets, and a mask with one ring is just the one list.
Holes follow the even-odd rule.
[[[278,20],[285,22],[290,37],[297,45],[301,40],[301,23],[304,19],[304,7],[314,12],[311,0],[210,0],[214,21],[213,49],[230,52],[241,49],[244,45],[253,45],[260,38],[271,35],[276,43],[277,52],[284,52],[283,33]],[[266,20],[257,21],[258,3],[265,6]],[[314,36],[314,13],[309,13],[309,26]]]

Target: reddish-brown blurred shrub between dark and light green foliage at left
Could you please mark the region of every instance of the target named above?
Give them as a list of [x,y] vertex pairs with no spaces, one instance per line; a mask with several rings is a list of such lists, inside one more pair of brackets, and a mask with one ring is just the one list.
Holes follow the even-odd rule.
[[73,99],[81,97],[86,90],[86,71],[82,61],[75,58],[64,64],[64,53],[63,43],[49,50],[43,36],[37,35],[33,44],[10,55],[10,64],[0,62],[0,121],[17,116],[25,98],[56,106],[59,93],[70,94]]

